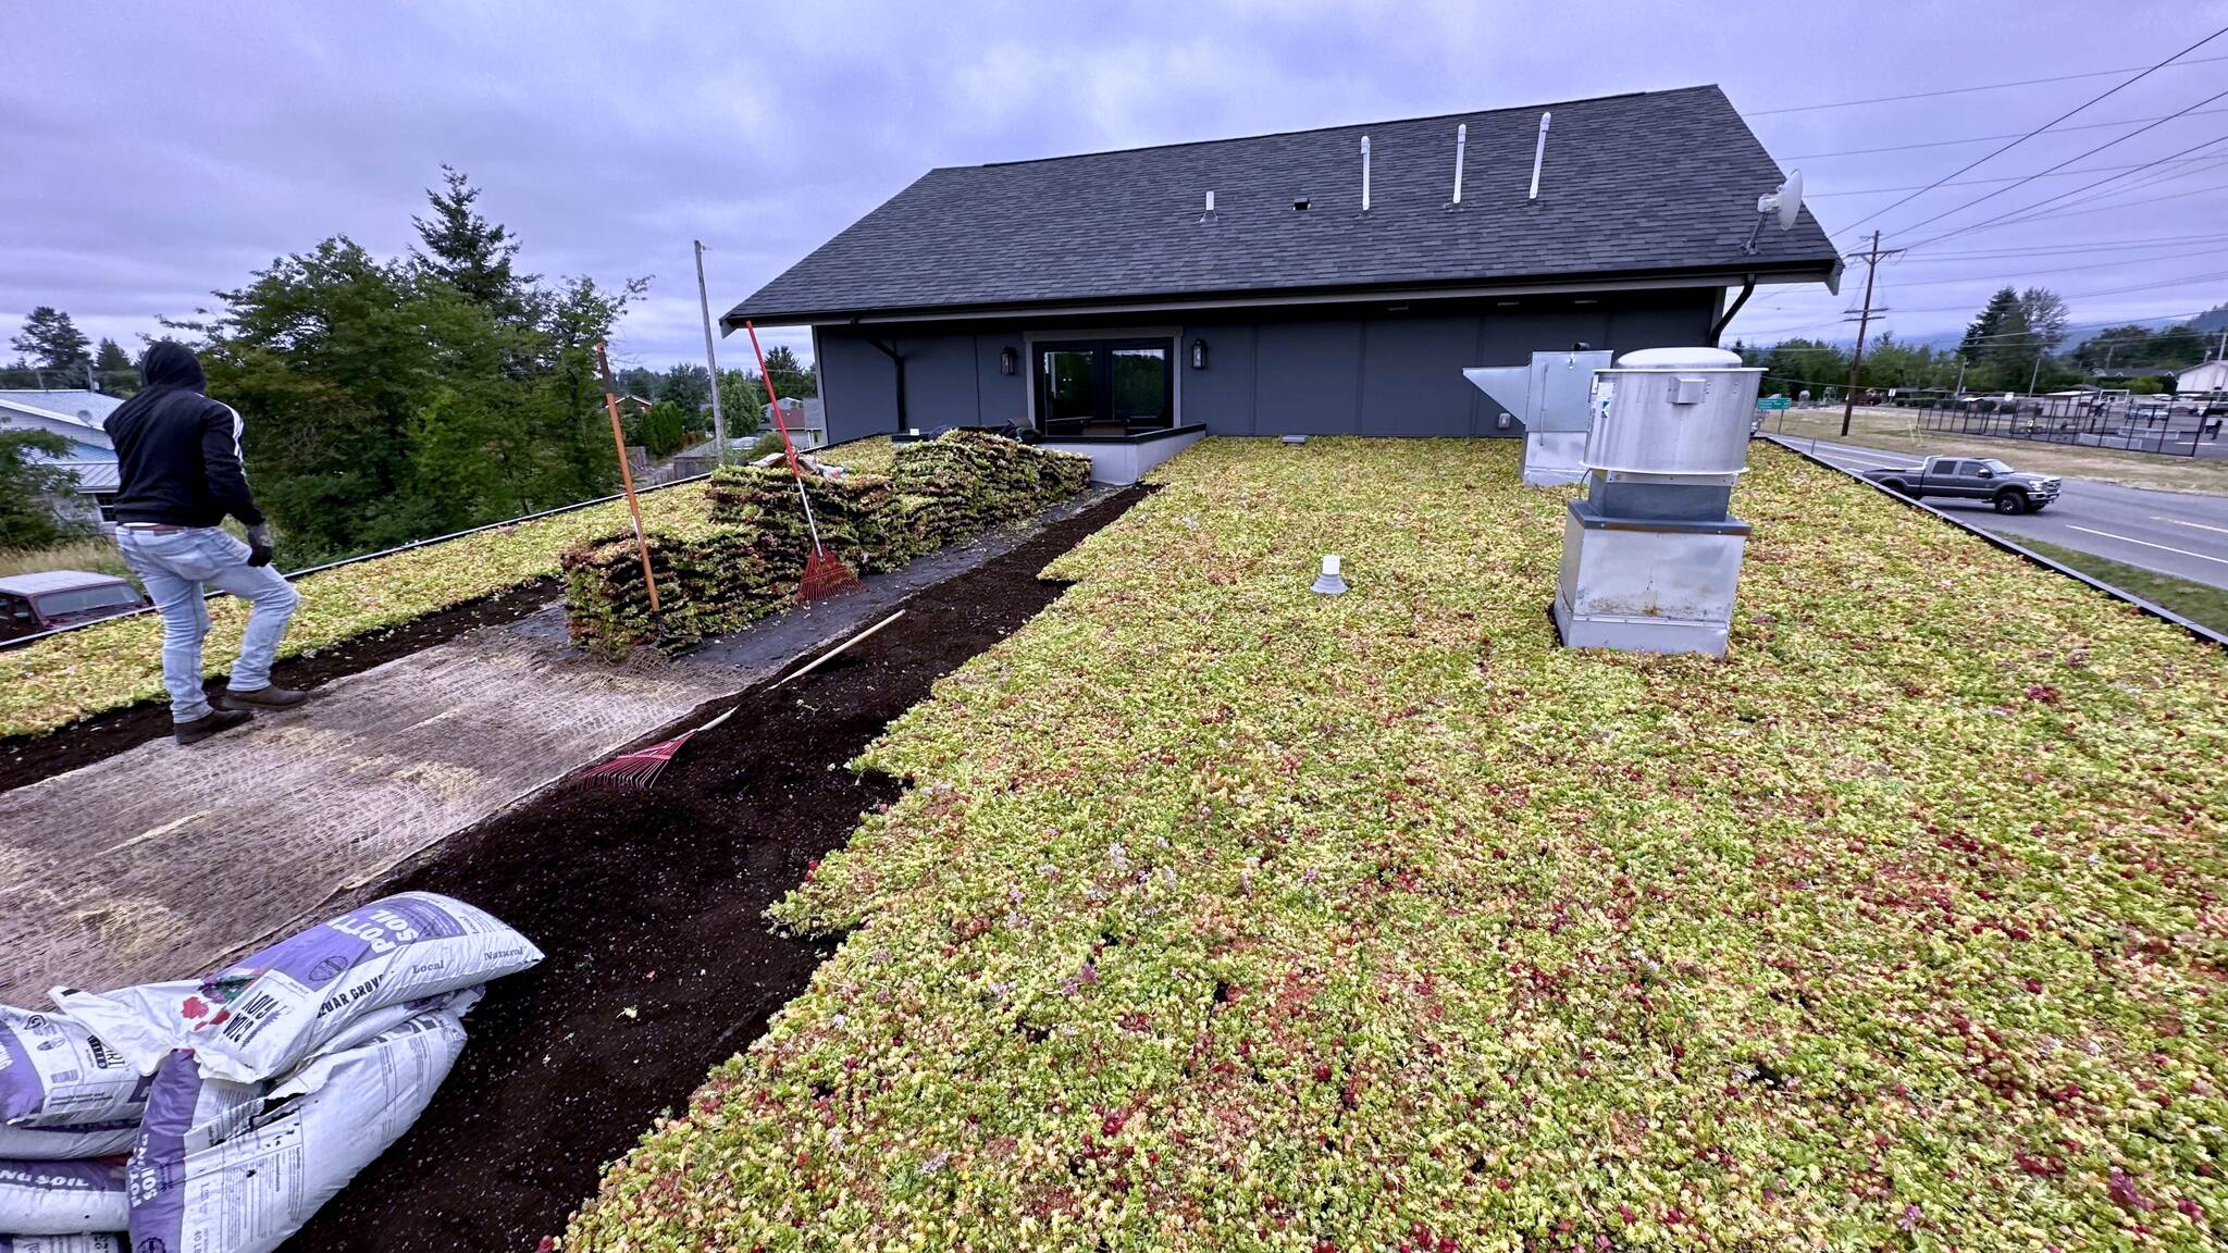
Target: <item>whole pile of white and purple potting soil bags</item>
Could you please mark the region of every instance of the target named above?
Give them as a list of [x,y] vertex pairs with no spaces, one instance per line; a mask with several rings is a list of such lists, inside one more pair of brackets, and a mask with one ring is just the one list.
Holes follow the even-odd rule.
[[0,1251],[276,1249],[426,1110],[481,985],[537,961],[405,892],[207,979],[0,1008]]

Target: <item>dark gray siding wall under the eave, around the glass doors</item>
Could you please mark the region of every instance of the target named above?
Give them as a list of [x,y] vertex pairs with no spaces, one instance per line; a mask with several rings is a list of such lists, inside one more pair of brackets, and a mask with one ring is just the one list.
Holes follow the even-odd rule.
[[[1548,308],[1540,308],[1548,305]],[[1555,308],[1560,305],[1560,308]],[[1210,435],[1522,435],[1497,428],[1499,410],[1464,377],[1464,366],[1522,366],[1533,352],[1573,343],[1631,352],[1704,343],[1718,290],[1602,294],[1593,303],[1528,299],[1433,310],[1277,310],[1192,321],[1176,339],[1183,421]],[[1136,326],[1127,321],[1123,326]],[[1094,334],[1061,326],[907,326],[882,332],[905,354],[907,426],[1027,421],[1029,370],[1023,334]],[[1190,346],[1208,341],[1208,368],[1190,368]],[[858,328],[818,330],[831,439],[898,430],[896,370]],[[1014,348],[1014,375],[998,350]]]

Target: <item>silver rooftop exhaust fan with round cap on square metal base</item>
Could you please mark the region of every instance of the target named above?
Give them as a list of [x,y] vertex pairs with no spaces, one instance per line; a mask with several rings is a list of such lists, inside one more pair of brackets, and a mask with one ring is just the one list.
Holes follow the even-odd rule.
[[1720,348],[1626,352],[1600,372],[1586,495],[1562,531],[1564,644],[1724,653],[1749,540],[1729,506],[1760,377]]

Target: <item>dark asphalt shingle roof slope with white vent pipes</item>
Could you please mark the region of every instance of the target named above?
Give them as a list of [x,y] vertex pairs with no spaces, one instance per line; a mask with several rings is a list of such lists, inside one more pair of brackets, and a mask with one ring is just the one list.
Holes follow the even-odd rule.
[[[1555,118],[1528,201],[1544,109]],[[1457,123],[1470,132],[1450,210]],[[1753,256],[1740,250],[1780,176],[1718,87],[945,167],[722,321],[1649,270],[1823,279],[1836,250],[1807,210],[1794,230],[1767,225]],[[1216,214],[1201,223],[1210,190]]]

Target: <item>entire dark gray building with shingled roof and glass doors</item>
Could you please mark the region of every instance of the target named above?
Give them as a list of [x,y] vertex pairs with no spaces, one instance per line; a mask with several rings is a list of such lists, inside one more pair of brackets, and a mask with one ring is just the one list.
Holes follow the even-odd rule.
[[833,441],[1522,435],[1462,368],[1838,283],[1780,181],[1718,87],[931,169],[722,326],[811,326]]

